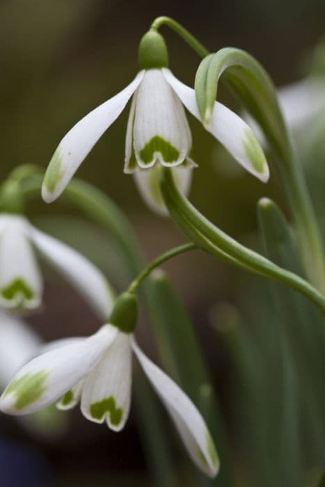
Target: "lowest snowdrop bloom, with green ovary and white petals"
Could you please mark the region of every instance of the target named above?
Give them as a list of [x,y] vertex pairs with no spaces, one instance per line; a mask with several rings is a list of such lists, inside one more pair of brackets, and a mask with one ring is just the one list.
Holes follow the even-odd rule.
[[189,455],[210,477],[219,460],[207,426],[189,397],[145,356],[136,344],[137,302],[122,294],[109,324],[88,338],[60,340],[16,374],[0,399],[4,413],[24,415],[58,401],[69,409],[79,401],[90,421],[120,431],[127,421],[131,401],[132,351],[143,372],[171,416]]

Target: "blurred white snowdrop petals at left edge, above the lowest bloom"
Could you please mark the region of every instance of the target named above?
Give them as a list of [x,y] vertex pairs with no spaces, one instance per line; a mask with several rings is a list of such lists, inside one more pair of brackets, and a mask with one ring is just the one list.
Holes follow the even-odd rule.
[[113,291],[102,273],[69,246],[37,230],[24,216],[0,215],[0,305],[28,310],[42,301],[39,253],[92,305],[102,319],[111,312]]

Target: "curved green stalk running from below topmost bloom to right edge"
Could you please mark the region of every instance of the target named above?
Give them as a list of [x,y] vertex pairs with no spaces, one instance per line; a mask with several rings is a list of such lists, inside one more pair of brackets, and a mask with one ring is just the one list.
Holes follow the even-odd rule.
[[[198,230],[199,234],[203,234],[203,237],[205,237],[206,240],[210,241],[225,255],[230,255],[233,259],[244,264],[246,268],[249,268],[251,271],[260,274],[261,276],[278,280],[279,282],[283,282],[293,289],[296,289],[296,291],[316,303],[325,314],[325,296],[323,296],[323,294],[310,285],[308,281],[276,264],[273,264],[270,260],[239,244],[235,239],[232,239],[232,237],[229,237],[225,232],[219,230],[218,227],[200,214],[200,212],[191,205],[189,200],[180,193],[173,181],[173,175],[168,169],[162,171],[161,193],[171,216],[173,218],[174,216],[176,216],[176,218],[184,216],[184,220],[178,218],[177,224],[186,234],[188,227],[187,221],[190,221],[191,225]],[[214,253],[213,248],[207,248],[205,244],[206,241],[203,239],[200,243],[201,248],[204,248],[208,252],[211,252],[212,250]],[[196,241],[196,245],[199,245],[198,241]],[[220,252],[214,253],[214,255],[219,257]]]

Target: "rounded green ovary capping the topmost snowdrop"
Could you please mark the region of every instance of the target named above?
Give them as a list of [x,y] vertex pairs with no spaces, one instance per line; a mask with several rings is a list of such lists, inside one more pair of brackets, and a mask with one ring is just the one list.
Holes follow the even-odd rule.
[[161,34],[149,31],[138,47],[138,65],[141,70],[168,67],[168,51]]

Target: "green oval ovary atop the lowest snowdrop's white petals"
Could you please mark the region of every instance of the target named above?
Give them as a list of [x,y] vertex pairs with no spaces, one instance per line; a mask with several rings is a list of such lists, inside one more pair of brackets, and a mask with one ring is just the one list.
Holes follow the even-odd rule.
[[123,333],[132,333],[138,317],[138,301],[134,294],[125,292],[116,299],[109,323]]

